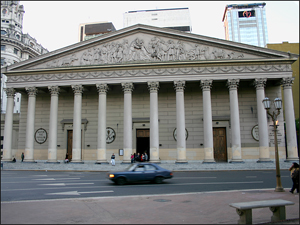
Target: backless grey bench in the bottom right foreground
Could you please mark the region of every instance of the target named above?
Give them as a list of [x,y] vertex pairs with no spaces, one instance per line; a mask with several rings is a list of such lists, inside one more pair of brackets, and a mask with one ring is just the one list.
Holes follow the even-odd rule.
[[238,224],[252,224],[252,209],[269,207],[273,212],[271,221],[285,220],[285,206],[294,205],[294,202],[274,199],[253,202],[238,202],[229,204],[231,207],[236,208],[237,214],[240,216]]

